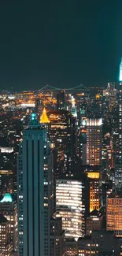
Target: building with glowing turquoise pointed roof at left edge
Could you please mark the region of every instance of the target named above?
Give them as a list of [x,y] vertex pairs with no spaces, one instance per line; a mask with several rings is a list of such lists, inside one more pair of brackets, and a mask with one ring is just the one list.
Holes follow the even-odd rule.
[[0,201],[0,213],[9,221],[10,239],[13,251],[17,251],[17,202],[11,194],[5,194]]

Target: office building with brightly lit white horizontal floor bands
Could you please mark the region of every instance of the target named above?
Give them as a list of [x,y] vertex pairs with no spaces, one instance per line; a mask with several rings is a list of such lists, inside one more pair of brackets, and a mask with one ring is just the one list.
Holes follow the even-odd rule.
[[89,213],[89,179],[86,174],[56,180],[56,210],[57,216],[62,217],[66,238],[84,236],[85,219]]

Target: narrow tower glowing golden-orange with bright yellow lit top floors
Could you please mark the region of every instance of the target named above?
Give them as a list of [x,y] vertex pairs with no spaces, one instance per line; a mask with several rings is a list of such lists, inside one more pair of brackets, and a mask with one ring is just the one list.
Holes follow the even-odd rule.
[[90,212],[94,209],[99,210],[100,197],[99,197],[99,173],[86,172],[90,179]]

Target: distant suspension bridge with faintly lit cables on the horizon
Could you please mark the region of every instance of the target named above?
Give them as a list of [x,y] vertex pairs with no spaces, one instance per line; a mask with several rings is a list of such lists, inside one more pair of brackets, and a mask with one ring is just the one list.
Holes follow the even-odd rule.
[[83,84],[80,84],[76,87],[70,87],[70,88],[57,88],[50,85],[46,85],[39,89],[39,91],[88,91],[88,88],[83,86]]

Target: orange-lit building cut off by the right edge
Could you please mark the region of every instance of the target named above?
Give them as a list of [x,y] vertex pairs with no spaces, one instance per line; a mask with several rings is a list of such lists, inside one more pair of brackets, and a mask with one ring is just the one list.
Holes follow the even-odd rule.
[[122,192],[113,191],[106,203],[106,229],[122,237]]

